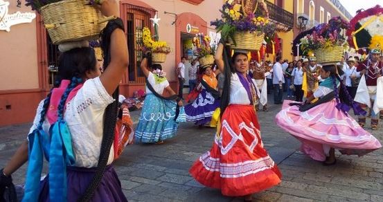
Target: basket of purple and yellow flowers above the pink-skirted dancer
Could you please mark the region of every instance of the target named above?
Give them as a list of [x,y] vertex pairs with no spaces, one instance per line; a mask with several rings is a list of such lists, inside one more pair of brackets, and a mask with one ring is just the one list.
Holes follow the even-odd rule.
[[321,63],[339,62],[347,48],[347,37],[340,35],[341,29],[348,29],[348,22],[340,17],[330,19],[328,24],[320,24],[310,35],[301,39],[303,53],[313,52]]

